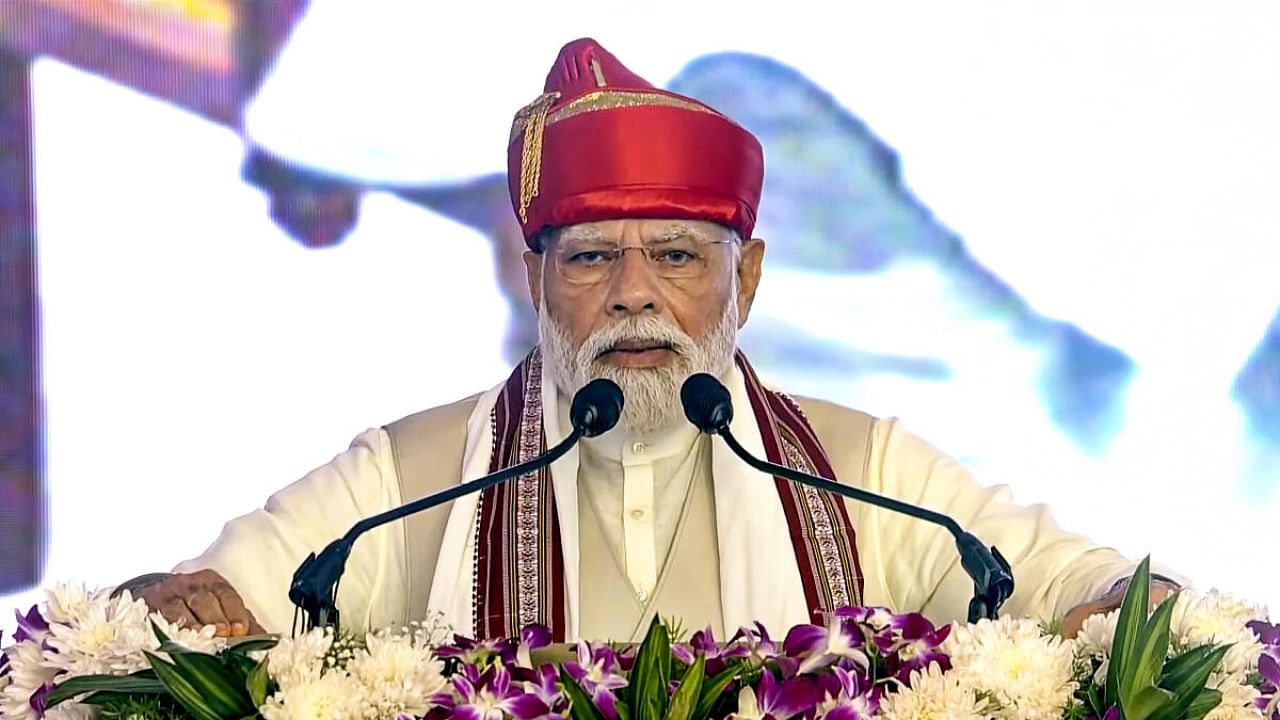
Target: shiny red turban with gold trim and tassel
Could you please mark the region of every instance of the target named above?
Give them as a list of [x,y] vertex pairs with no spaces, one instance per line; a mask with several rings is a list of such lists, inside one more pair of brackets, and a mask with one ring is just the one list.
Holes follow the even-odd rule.
[[507,147],[530,247],[547,227],[618,218],[710,220],[749,238],[763,179],[751,133],[654,87],[590,38],[561,50],[543,95],[516,113]]

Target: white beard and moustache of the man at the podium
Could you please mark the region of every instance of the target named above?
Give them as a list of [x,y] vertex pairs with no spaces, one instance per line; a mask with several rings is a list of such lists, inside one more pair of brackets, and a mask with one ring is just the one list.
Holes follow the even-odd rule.
[[[618,424],[628,434],[649,434],[685,421],[680,387],[689,375],[710,373],[719,377],[733,361],[737,345],[737,302],[733,293],[724,304],[719,322],[701,340],[694,340],[672,323],[652,315],[631,316],[607,325],[575,347],[568,329],[547,311],[545,293],[538,313],[538,333],[543,364],[566,396],[572,397],[586,383],[608,378],[622,388],[622,418]],[[623,341],[653,341],[668,345],[675,361],[658,368],[618,368],[599,356]]]

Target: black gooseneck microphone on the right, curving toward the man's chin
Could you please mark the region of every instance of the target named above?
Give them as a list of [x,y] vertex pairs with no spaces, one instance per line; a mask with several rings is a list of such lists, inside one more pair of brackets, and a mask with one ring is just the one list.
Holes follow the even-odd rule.
[[730,398],[728,389],[714,377],[707,373],[690,375],[680,388],[680,401],[685,406],[685,416],[689,418],[689,421],[694,427],[707,434],[718,434],[724,438],[724,443],[728,445],[735,455],[762,473],[780,475],[796,483],[833,492],[842,497],[884,507],[946,528],[955,537],[956,550],[960,552],[961,568],[973,579],[974,596],[969,601],[970,623],[977,623],[980,618],[995,620],[1000,606],[1009,600],[1009,596],[1014,594],[1014,575],[1009,561],[1005,560],[995,546],[988,550],[982,541],[972,533],[965,532],[951,516],[754,457],[737,442],[737,438],[728,429],[728,424],[733,419],[733,402]]

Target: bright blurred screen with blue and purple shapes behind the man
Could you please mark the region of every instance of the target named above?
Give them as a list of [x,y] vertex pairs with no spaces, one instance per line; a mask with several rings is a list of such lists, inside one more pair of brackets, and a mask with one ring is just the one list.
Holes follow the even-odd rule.
[[509,5],[0,0],[0,606],[503,379],[581,36],[764,145],[767,382],[1280,602],[1280,5]]

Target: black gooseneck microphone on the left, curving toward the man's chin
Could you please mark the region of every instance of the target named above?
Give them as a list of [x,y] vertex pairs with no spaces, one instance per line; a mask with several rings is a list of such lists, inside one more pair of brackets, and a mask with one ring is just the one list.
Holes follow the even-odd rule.
[[540,470],[559,460],[581,438],[609,432],[618,423],[621,415],[622,389],[613,380],[605,378],[591,380],[573,395],[573,402],[570,406],[570,424],[573,429],[556,447],[518,465],[365,518],[352,525],[347,534],[329,543],[320,551],[320,555],[314,552],[307,555],[307,559],[293,573],[293,580],[289,583],[289,600],[297,607],[293,616],[293,633],[297,634],[298,630],[298,612],[302,612],[305,630],[323,626],[332,626],[334,632],[339,629],[338,582],[346,570],[351,548],[360,536],[415,512],[430,510],[511,478]]

